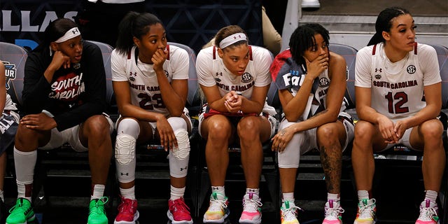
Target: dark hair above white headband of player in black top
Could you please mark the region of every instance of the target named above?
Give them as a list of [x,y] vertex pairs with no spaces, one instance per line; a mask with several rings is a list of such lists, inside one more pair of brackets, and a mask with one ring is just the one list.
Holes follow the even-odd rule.
[[43,42],[38,45],[36,50],[42,50],[48,48],[51,42],[56,41],[58,38],[65,35],[73,27],[78,27],[75,22],[67,18],[59,18],[48,24],[48,27],[43,32]]

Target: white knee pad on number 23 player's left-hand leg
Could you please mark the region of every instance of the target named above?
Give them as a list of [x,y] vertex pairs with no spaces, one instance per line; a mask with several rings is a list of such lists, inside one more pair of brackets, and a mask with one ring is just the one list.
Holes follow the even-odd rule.
[[135,157],[136,139],[129,134],[118,134],[115,145],[115,158],[120,165],[127,165]]

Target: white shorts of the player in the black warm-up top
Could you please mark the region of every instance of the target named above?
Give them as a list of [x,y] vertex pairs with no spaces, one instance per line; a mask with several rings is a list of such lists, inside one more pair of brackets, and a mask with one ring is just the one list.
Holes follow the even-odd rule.
[[[50,116],[50,118],[53,117],[52,114],[48,111],[42,111],[42,113],[45,113],[46,115]],[[113,121],[111,120],[111,118],[109,118],[109,115],[107,115],[106,113],[103,113],[103,115],[109,122],[109,133],[112,134]],[[87,151],[88,148],[83,146],[83,144],[81,144],[79,139],[79,126],[80,125],[70,127],[66,130],[63,130],[62,132],[59,132],[56,127],[53,128],[51,130],[50,141],[48,141],[48,143],[45,146],[39,147],[39,149],[49,150],[53,148],[59,148],[60,146],[68,143],[70,144],[71,148],[73,148],[74,151],[77,152]]]

